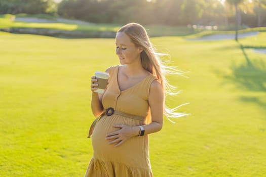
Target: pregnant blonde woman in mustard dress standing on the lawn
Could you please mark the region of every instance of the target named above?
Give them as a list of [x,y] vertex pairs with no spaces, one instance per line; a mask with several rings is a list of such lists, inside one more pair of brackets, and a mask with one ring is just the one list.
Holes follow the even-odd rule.
[[169,113],[165,67],[137,23],[117,32],[116,53],[121,65],[106,70],[110,77],[103,94],[94,92],[98,83],[95,76],[91,79],[91,109],[99,118],[85,176],[153,176],[148,134],[160,131],[163,114]]

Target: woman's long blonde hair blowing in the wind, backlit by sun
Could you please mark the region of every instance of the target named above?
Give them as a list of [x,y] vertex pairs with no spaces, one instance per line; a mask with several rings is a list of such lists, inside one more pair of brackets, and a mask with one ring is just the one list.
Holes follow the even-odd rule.
[[[142,67],[153,74],[159,82],[162,84],[164,95],[174,95],[173,89],[175,88],[166,79],[166,74],[178,74],[182,75],[183,72],[175,69],[172,66],[167,66],[160,60],[160,56],[168,55],[168,54],[161,54],[156,53],[155,48],[153,47],[152,43],[149,40],[148,34],[143,26],[137,23],[129,23],[118,30],[118,32],[124,32],[127,34],[131,41],[136,45],[136,47],[142,48],[142,52],[140,53]],[[164,97],[164,98],[165,98]],[[182,105],[180,105],[182,106]],[[164,114],[169,119],[177,118],[184,115],[185,113],[178,113],[176,110],[180,107],[175,107],[170,109],[165,104],[164,99]],[[146,118],[146,123],[150,122],[150,112]],[[169,119],[171,121],[171,119]]]

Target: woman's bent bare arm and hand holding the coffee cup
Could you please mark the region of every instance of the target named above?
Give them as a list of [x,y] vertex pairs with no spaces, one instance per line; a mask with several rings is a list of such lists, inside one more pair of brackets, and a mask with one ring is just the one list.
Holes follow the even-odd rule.
[[96,76],[92,76],[91,78],[91,110],[95,117],[99,117],[103,112],[102,106],[102,95],[94,92],[98,87]]

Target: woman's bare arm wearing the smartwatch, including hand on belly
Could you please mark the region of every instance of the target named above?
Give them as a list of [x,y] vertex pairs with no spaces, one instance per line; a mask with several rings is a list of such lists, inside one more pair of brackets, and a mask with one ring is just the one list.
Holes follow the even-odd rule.
[[[144,135],[160,131],[163,127],[164,92],[158,80],[153,81],[150,85],[148,103],[150,106],[151,122],[143,125]],[[139,135],[139,126],[132,127],[124,124],[115,124],[113,126],[121,129],[107,134],[106,140],[111,140],[109,144],[116,143],[115,147],[121,145],[129,138]]]

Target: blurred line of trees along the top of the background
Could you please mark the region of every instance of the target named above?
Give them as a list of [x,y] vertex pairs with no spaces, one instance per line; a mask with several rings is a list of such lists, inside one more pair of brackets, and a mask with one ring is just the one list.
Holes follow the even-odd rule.
[[[237,9],[236,9],[237,5]],[[0,0],[0,14],[48,13],[94,23],[266,26],[266,0]],[[237,15],[237,16],[236,16]]]

